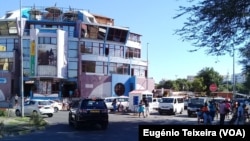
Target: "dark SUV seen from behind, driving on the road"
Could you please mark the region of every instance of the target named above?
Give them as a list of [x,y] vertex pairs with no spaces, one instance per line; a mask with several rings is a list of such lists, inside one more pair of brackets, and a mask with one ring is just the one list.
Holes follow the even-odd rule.
[[109,124],[108,108],[104,99],[81,99],[70,108],[68,120],[69,125],[76,129],[99,124],[101,129],[105,130]]

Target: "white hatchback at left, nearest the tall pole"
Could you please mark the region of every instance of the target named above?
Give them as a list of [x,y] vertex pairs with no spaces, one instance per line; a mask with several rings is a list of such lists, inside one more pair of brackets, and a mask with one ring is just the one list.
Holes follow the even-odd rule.
[[[38,113],[41,115],[47,115],[52,117],[54,113],[54,107],[50,104],[49,100],[31,99],[24,103],[25,115],[31,115],[32,113]],[[16,108],[16,115],[21,115],[21,106]]]

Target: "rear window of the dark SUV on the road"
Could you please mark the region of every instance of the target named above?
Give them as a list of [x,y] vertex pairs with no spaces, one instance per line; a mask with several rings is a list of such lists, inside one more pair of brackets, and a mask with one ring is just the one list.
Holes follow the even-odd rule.
[[103,100],[83,100],[82,109],[105,109],[106,104]]

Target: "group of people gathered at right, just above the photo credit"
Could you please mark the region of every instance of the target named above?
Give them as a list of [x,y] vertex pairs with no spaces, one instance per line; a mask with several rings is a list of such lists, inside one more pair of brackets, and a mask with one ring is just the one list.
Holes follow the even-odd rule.
[[244,115],[248,115],[246,112],[246,105],[240,104],[237,101],[234,104],[231,104],[228,100],[221,101],[220,103],[209,101],[209,103],[205,103],[197,111],[198,124],[201,123],[201,120],[203,120],[205,125],[212,124],[218,114],[219,124],[224,125],[226,117],[232,114],[233,116],[230,123],[238,125],[244,122]]

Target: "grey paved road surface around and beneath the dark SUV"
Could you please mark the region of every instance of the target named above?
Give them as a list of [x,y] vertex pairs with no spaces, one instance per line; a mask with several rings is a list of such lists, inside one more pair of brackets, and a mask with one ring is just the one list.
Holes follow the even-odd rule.
[[68,112],[60,111],[55,113],[52,118],[45,119],[50,126],[46,130],[36,131],[27,135],[7,137],[2,141],[138,141],[138,126],[141,124],[197,124],[196,118],[187,117],[186,112],[182,115],[159,115],[152,113],[147,118],[139,118],[137,115],[130,114],[109,114],[110,124],[107,130],[100,130],[98,126],[75,130],[68,125]]

